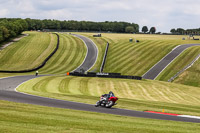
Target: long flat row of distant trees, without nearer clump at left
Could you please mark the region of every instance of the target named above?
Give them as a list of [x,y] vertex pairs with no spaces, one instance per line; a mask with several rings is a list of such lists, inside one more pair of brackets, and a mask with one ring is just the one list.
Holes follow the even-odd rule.
[[71,30],[71,31],[98,31],[98,32],[117,32],[117,33],[137,33],[139,25],[128,22],[92,22],[92,21],[59,21],[51,19],[25,19],[28,23],[28,30]]

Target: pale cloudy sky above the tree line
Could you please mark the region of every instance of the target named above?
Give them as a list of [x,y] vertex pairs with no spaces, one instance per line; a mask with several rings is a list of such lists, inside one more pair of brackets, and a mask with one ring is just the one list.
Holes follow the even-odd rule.
[[200,0],[0,0],[0,18],[125,21],[170,32],[200,28]]

